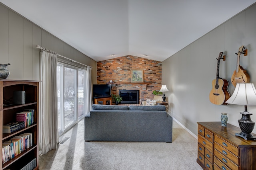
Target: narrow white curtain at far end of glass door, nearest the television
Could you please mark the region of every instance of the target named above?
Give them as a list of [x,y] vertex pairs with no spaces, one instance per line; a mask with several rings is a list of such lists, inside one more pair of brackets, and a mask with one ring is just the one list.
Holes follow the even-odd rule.
[[90,111],[92,109],[92,68],[87,67],[87,74],[86,74],[87,84],[86,84],[86,110],[85,110],[85,116],[90,116]]

